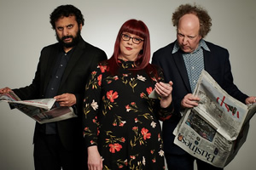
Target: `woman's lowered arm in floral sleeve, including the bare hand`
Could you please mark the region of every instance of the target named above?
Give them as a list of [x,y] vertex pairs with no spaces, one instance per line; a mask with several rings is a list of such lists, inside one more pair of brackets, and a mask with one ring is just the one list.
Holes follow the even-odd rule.
[[84,127],[84,141],[88,151],[89,169],[102,169],[102,158],[97,150],[98,120],[97,113],[101,100],[102,72],[100,69],[92,71],[90,79],[85,86],[84,115],[82,116]]

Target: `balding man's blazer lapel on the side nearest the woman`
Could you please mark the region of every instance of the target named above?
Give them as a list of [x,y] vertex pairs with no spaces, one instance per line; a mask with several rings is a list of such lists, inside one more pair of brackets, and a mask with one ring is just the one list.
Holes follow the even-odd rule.
[[183,60],[183,55],[181,54],[180,50],[173,54],[174,62],[177,66],[177,70],[180,74],[180,76],[183,79],[184,85],[187,88],[187,90],[191,93],[190,83],[189,83],[189,77],[187,73],[187,69]]

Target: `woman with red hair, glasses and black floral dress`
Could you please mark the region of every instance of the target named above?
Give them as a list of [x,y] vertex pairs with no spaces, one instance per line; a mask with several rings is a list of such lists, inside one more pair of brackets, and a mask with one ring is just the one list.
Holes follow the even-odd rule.
[[[159,120],[172,116],[172,82],[149,64],[148,27],[127,20],[113,56],[90,75],[84,95],[84,141],[88,167],[165,169]],[[157,99],[148,95],[155,90]]]

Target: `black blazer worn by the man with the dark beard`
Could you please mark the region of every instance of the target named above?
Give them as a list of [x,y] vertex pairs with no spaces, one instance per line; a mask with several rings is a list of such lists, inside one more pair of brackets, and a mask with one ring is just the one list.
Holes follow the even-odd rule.
[[[60,43],[45,47],[41,51],[38,68],[32,84],[25,88],[14,89],[20,99],[44,99],[45,90],[55,66],[57,54],[61,48]],[[83,129],[81,116],[83,116],[84,87],[91,71],[96,68],[98,62],[107,59],[107,55],[100,48],[96,48],[81,38],[74,48],[73,54],[68,61],[63,73],[59,94],[75,94],[77,99],[76,113],[79,117],[57,122],[57,129],[62,144],[69,150],[82,144]],[[37,138],[39,126],[36,123],[34,141]]]

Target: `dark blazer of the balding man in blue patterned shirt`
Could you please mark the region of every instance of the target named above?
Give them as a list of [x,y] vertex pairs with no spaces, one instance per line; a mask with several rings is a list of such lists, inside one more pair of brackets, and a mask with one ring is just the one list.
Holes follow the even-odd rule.
[[[173,144],[174,135],[172,134],[177,122],[180,120],[181,100],[186,94],[192,94],[189,77],[183,61],[182,51],[172,54],[175,42],[170,43],[164,48],[160,48],[153,54],[152,64],[160,65],[163,69],[165,81],[173,82],[172,99],[174,103],[174,114],[172,118],[163,122],[163,139],[166,153],[184,154],[185,151]],[[245,103],[248,97],[233,83],[231,73],[229,52],[225,48],[207,42],[210,52],[203,49],[205,70],[224,88],[224,90],[234,98]]]

